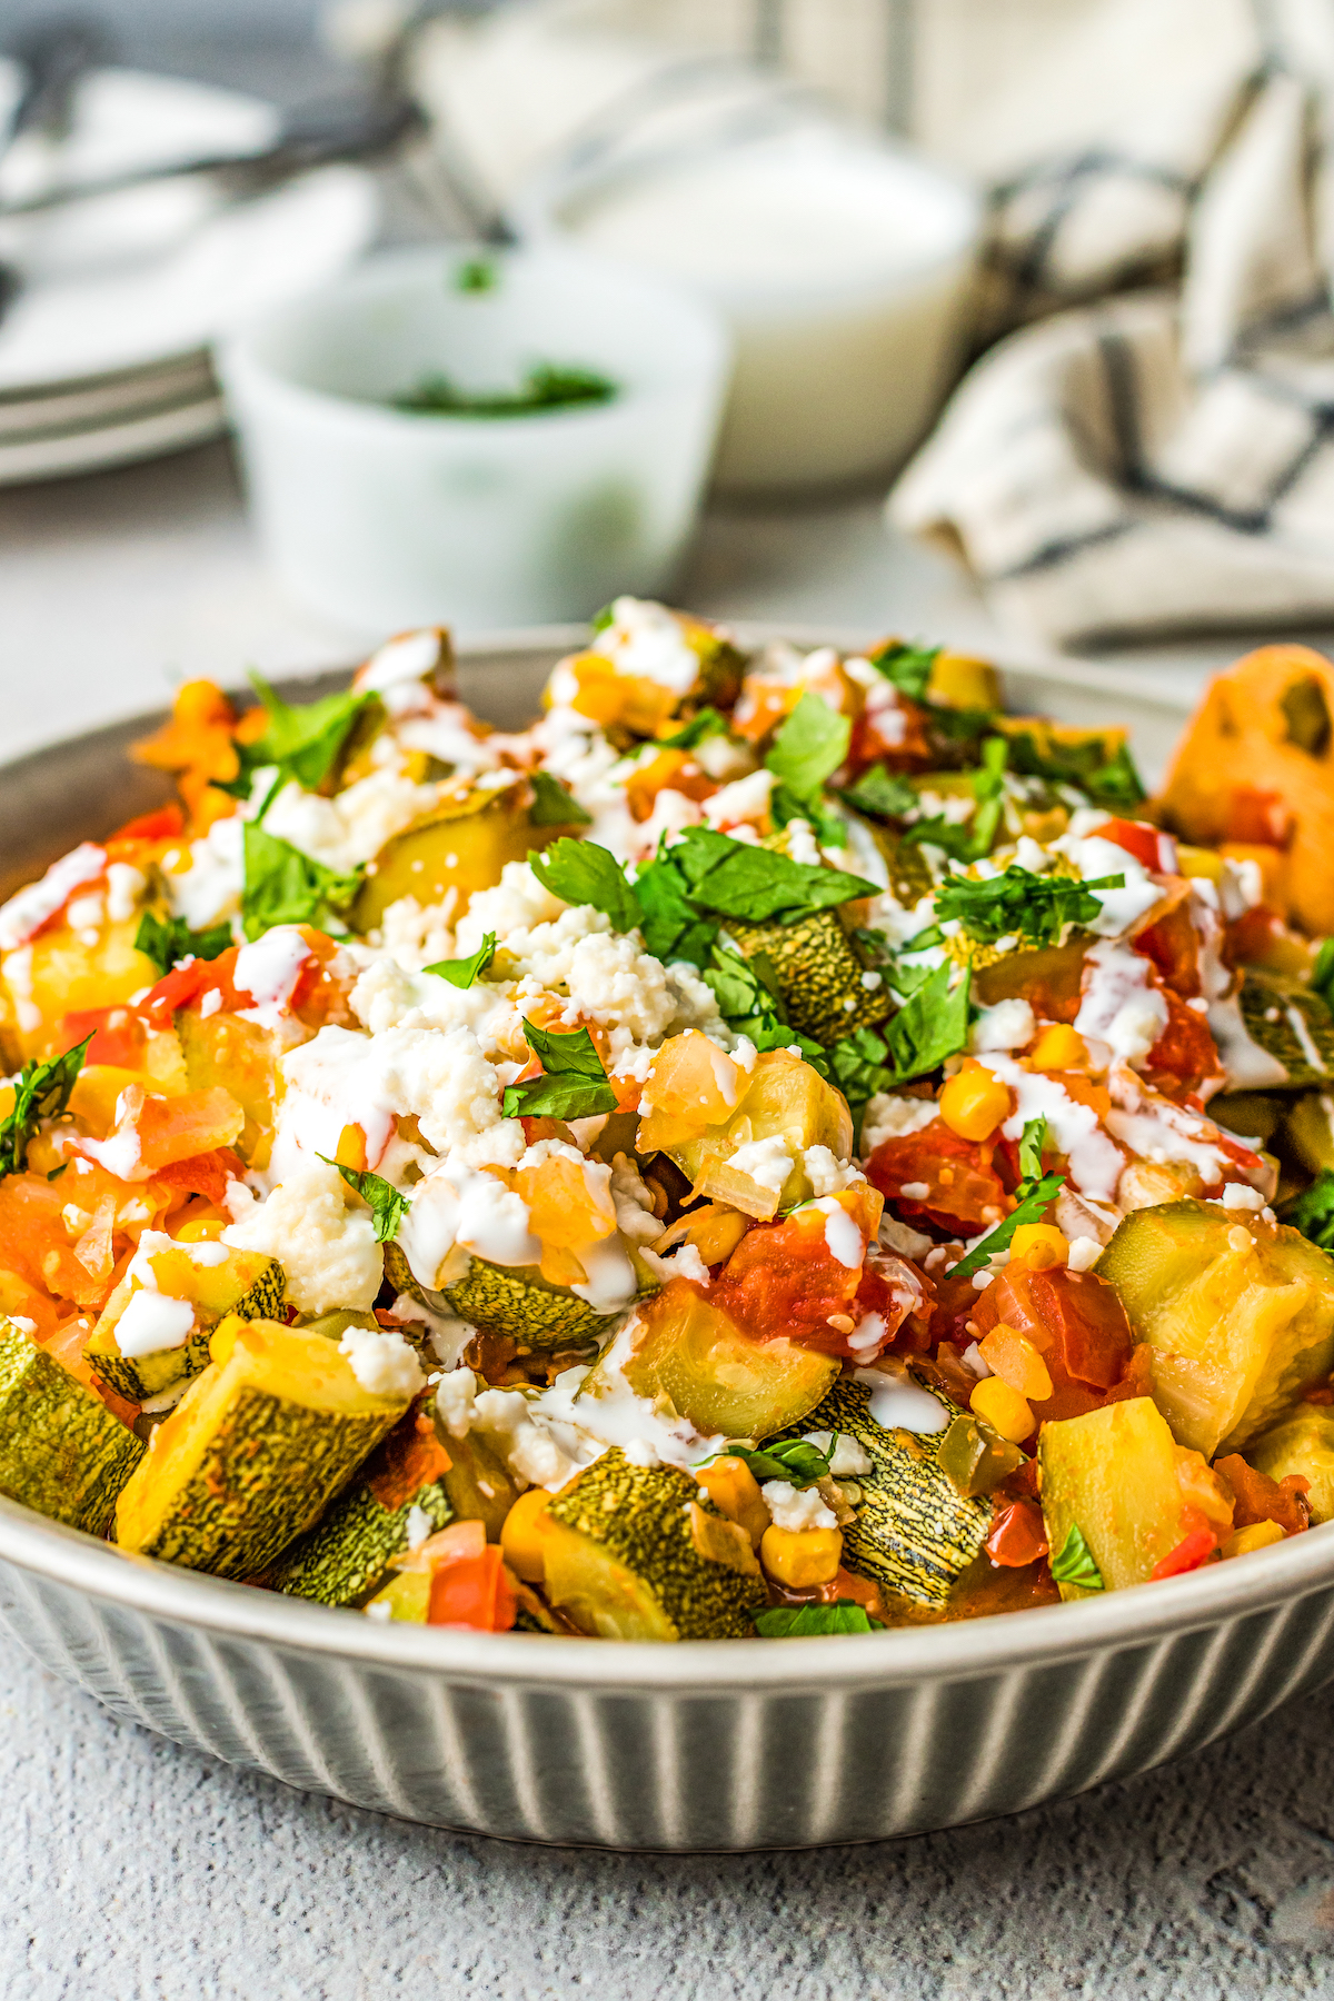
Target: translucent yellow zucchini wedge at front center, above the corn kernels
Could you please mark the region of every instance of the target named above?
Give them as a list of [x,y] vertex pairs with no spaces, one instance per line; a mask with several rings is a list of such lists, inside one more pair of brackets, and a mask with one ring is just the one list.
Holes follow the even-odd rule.
[[[628,1345],[622,1359],[620,1349]],[[768,1439],[798,1425],[838,1377],[838,1361],[796,1341],[752,1341],[696,1287],[672,1281],[640,1307],[616,1367],[636,1397],[672,1409],[704,1437]],[[614,1393],[610,1351],[584,1379],[580,1397]]]

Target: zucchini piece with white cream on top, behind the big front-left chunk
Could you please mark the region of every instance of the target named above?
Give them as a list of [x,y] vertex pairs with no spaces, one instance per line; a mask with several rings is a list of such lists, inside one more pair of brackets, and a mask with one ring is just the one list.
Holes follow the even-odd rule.
[[[224,1253],[218,1259],[218,1253]],[[130,1403],[158,1397],[174,1383],[208,1369],[208,1343],[218,1321],[234,1313],[242,1321],[272,1321],[282,1313],[286,1277],[282,1265],[264,1251],[232,1251],[226,1245],[166,1245],[148,1255],[156,1291],[194,1307],[194,1327],[178,1349],[150,1355],[122,1355],[116,1329],[126,1307],[142,1291],[140,1279],[126,1275],[88,1337],[84,1355],[90,1369]]]

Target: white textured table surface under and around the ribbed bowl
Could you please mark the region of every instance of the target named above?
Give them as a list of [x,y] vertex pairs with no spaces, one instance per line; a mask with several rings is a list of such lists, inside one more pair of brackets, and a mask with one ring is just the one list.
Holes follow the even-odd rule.
[[[700,610],[996,640],[872,500],[716,514]],[[222,446],[0,494],[0,756],[186,674],[348,658],[284,604]],[[1190,690],[1226,640],[1126,662]],[[612,1857],[380,1821],[178,1751],[0,1645],[4,2001],[1232,2001],[1334,1995],[1334,1693],[1136,1785],[964,1833]]]

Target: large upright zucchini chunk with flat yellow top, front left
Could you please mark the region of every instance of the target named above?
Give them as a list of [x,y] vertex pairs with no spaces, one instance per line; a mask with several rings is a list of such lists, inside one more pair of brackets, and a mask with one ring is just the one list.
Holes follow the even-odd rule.
[[214,1577],[256,1577],[314,1527],[410,1399],[374,1397],[332,1341],[232,1321],[116,1505],[116,1541]]

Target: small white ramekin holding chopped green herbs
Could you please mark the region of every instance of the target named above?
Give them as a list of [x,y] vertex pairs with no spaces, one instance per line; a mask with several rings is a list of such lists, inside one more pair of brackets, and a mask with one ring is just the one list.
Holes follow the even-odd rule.
[[[460,286],[486,260],[486,290]],[[428,374],[594,368],[616,400],[516,418],[392,400]],[[694,530],[730,374],[720,316],[558,246],[412,248],[252,322],[218,372],[284,588],[368,636],[586,618],[658,594]]]

